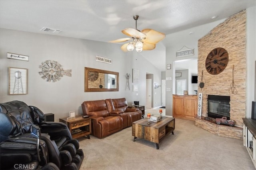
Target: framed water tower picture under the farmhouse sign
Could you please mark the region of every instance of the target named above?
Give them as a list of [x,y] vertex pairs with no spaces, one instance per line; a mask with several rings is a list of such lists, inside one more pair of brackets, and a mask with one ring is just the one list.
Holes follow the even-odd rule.
[[28,69],[9,67],[9,95],[28,94]]

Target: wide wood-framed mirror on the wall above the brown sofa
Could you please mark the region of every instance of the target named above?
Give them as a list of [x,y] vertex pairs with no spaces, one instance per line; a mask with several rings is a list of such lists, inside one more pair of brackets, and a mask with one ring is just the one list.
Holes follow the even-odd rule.
[[84,92],[114,92],[118,90],[118,72],[84,67]]

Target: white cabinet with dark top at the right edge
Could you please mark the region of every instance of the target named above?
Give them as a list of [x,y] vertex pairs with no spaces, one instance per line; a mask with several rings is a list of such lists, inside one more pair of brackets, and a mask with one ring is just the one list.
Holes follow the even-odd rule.
[[246,119],[244,120],[244,146],[246,147],[250,158],[256,168],[256,120]]

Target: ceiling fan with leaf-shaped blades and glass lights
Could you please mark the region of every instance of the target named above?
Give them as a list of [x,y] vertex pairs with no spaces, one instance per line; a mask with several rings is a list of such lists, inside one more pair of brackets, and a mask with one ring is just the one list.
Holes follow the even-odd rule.
[[135,20],[135,29],[126,28],[122,30],[122,33],[128,35],[130,38],[120,38],[113,41],[109,41],[110,43],[120,43],[125,41],[130,41],[122,45],[122,51],[132,51],[136,48],[136,51],[140,53],[142,50],[153,50],[156,48],[156,43],[165,38],[164,33],[160,33],[154,29],[143,29],[142,31],[137,29],[137,20],[139,16],[134,16]]

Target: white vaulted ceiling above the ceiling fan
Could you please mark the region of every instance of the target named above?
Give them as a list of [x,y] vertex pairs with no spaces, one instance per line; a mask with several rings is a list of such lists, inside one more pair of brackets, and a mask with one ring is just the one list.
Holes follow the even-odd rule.
[[[212,16],[228,18],[255,5],[255,0],[0,0],[0,27],[108,42],[127,37],[121,30],[135,28],[133,16],[138,15],[138,29],[166,34],[156,49],[141,53],[163,70],[166,47],[180,39],[173,33],[216,21]],[[42,27],[61,32],[40,31]]]

